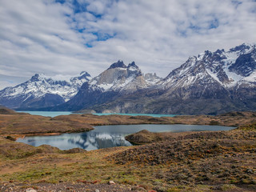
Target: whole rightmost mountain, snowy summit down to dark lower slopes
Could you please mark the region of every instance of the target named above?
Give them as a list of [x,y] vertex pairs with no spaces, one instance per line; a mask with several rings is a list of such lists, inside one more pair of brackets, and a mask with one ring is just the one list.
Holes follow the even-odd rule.
[[205,51],[154,86],[94,106],[98,111],[153,114],[220,114],[256,109],[256,49],[242,44]]

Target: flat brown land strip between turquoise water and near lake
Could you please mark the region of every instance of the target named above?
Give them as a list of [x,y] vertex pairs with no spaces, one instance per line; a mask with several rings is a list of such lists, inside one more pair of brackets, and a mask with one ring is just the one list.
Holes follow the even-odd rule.
[[94,130],[93,126],[133,124],[185,124],[243,126],[255,121],[256,112],[233,112],[217,116],[178,115],[153,118],[150,116],[70,114],[54,118],[24,113],[0,114],[0,134],[15,137],[31,134],[63,134]]

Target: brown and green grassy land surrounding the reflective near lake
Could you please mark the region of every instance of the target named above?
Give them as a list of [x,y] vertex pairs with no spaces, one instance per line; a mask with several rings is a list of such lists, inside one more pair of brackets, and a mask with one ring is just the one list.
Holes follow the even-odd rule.
[[[3,118],[2,115],[10,117]],[[16,120],[11,116],[16,115],[15,118],[18,118],[20,115],[30,115],[2,115],[0,125],[4,128],[0,127],[0,131],[1,129],[4,131],[0,136],[0,191],[256,190],[254,113],[231,113],[219,117],[190,116],[190,119],[184,116],[124,118],[115,115],[98,118],[90,114],[43,118],[42,121],[59,121],[70,125],[72,122],[86,122],[86,126],[118,124],[120,121],[125,123],[127,119],[130,123],[142,123],[142,121],[170,123],[183,119],[187,123],[194,122],[191,124],[196,122],[207,124],[208,121],[208,124],[214,125],[224,122],[226,125],[231,123],[240,125],[238,129],[219,132],[182,134],[143,132],[138,134],[137,138],[134,137],[134,142],[142,139],[144,145],[93,151],[58,150],[52,146],[34,147],[14,142],[12,140],[15,135],[11,134],[14,133],[12,131],[18,129],[22,133],[23,129],[21,126],[16,128]],[[10,127],[10,133],[7,126]],[[143,138],[150,139],[143,140]],[[114,183],[109,184],[110,181]]]

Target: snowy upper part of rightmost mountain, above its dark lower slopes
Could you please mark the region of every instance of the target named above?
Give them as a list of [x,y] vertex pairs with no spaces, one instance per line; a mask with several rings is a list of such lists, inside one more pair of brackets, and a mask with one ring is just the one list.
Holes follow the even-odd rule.
[[190,57],[182,66],[158,82],[158,85],[169,89],[206,82],[206,86],[216,83],[228,89],[241,83],[254,84],[255,59],[255,45],[242,44],[229,51],[217,50],[214,53],[206,50],[198,57]]

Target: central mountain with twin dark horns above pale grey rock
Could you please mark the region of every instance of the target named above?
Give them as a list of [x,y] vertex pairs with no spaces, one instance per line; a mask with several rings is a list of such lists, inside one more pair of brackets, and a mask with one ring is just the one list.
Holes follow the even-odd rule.
[[50,110],[81,110],[109,102],[114,98],[121,97],[121,95],[146,89],[152,84],[154,83],[145,80],[142,71],[134,62],[128,66],[122,61],[114,62],[97,77],[85,82],[78,94],[69,102]]

